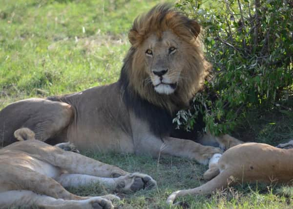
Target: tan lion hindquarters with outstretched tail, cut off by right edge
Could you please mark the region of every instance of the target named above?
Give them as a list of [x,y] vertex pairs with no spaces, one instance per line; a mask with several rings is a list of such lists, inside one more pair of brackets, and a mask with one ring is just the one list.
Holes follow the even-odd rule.
[[[278,147],[292,147],[280,144]],[[280,149],[263,143],[244,143],[228,149],[222,156],[211,159],[209,170],[204,174],[206,184],[173,192],[167,199],[172,204],[176,197],[209,194],[216,189],[235,183],[265,182],[292,183],[293,149]]]

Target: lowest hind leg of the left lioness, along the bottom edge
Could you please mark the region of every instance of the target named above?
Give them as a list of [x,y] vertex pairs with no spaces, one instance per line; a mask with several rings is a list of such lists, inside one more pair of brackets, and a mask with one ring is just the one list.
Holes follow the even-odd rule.
[[[111,209],[113,207],[109,200],[102,197],[74,195],[54,179],[26,167],[6,165],[6,172],[2,175],[5,176],[5,182],[13,183],[9,190],[11,188],[16,190],[0,193],[0,208],[2,205],[36,205],[45,209]],[[4,187],[5,184],[7,183],[4,183]]]

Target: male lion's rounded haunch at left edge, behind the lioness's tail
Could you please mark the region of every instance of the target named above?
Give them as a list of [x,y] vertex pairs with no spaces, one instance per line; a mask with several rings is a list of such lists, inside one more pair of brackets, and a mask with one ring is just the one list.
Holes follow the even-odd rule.
[[26,127],[37,140],[45,141],[61,132],[73,118],[72,107],[47,99],[24,99],[0,111],[0,146],[15,142],[15,130]]

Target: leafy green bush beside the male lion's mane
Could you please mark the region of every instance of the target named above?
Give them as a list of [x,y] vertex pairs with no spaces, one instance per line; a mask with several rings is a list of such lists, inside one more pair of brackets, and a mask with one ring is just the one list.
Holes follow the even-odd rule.
[[229,133],[247,111],[270,110],[292,96],[293,1],[181,0],[176,6],[203,26],[213,64],[206,89],[174,118],[178,127],[190,129],[202,114],[211,133]]

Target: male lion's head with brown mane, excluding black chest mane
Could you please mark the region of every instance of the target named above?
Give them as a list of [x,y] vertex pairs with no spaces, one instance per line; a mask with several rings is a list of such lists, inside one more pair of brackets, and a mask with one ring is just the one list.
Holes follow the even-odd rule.
[[122,71],[129,88],[170,113],[188,106],[210,68],[199,33],[195,20],[167,4],[136,18],[128,33],[131,48]]

